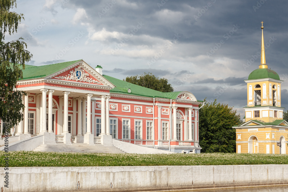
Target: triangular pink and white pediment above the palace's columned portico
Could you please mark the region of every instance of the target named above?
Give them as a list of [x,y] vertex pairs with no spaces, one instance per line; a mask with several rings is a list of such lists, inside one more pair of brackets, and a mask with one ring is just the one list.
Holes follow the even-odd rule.
[[53,79],[55,81],[68,81],[70,83],[90,84],[100,87],[115,86],[100,75],[95,69],[89,66],[83,60],[76,62],[65,69],[59,70],[46,77],[45,79]]

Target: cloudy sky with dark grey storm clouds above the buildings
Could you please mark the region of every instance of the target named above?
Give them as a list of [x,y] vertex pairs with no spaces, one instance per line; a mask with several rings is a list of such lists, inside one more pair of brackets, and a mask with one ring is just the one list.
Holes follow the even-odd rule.
[[[83,59],[124,79],[151,72],[175,91],[217,99],[244,116],[247,86],[258,69],[261,21],[266,64],[282,83],[288,108],[288,1],[18,0],[18,33],[31,65]],[[258,53],[259,54],[259,53]],[[248,62],[249,61],[249,62]]]

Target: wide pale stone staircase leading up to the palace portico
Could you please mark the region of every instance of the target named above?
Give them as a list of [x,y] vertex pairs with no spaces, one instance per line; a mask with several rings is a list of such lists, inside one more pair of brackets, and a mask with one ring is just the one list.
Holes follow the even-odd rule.
[[83,143],[72,143],[72,145],[39,145],[33,151],[53,151],[53,152],[78,152],[78,153],[125,153],[114,146],[104,146],[101,144],[88,145]]

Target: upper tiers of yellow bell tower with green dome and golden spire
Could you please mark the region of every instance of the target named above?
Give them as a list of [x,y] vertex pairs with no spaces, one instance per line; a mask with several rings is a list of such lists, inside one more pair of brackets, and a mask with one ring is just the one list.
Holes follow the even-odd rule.
[[247,107],[245,107],[245,121],[251,119],[263,122],[272,122],[283,119],[283,109],[281,108],[281,83],[279,75],[268,69],[265,59],[265,47],[263,38],[261,43],[261,63],[259,69],[250,73],[247,83]]

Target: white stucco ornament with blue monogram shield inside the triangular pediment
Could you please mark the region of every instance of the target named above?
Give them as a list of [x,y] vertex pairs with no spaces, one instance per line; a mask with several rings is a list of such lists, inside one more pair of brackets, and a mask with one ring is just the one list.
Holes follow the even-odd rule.
[[[75,70],[75,71],[74,71]],[[67,76],[59,76],[55,77],[56,79],[66,79],[66,80],[74,80],[74,81],[80,81],[80,82],[87,82],[87,83],[96,83],[101,84],[99,81],[95,81],[92,78],[89,78],[89,74],[85,73],[84,69],[82,67],[78,66],[75,67],[74,70],[70,71],[70,74]]]

